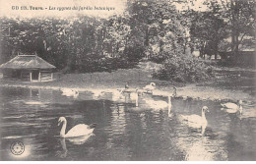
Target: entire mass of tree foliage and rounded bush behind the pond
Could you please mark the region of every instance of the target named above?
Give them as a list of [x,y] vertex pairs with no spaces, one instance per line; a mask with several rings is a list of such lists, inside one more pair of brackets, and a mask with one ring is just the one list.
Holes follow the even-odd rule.
[[[178,11],[192,0],[132,0],[122,15],[107,19],[1,18],[1,63],[18,51],[36,52],[59,71],[92,73],[133,68],[143,58],[162,64],[154,77],[175,82],[203,81],[211,67],[191,55],[195,48],[217,54],[252,45],[252,0],[205,0],[207,11]],[[232,42],[227,43],[226,38]]]

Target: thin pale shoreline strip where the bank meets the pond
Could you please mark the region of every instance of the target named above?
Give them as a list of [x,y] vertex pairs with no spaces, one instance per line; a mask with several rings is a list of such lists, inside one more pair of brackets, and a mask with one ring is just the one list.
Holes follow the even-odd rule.
[[[74,90],[78,90],[78,91],[90,91],[93,92],[93,90],[100,90],[100,91],[107,91],[107,92],[111,92],[113,90],[118,90],[121,88],[115,87],[115,88],[89,88],[89,87],[65,87],[65,86],[50,86],[50,85],[27,85],[27,84],[0,84],[0,86],[3,87],[24,87],[24,88],[43,88],[43,89],[53,89],[53,90],[61,90],[61,89],[65,89],[65,88],[69,88],[69,89],[74,89]],[[158,94],[158,95],[154,95],[154,96],[167,96],[166,93],[168,93],[168,95],[171,95],[172,92],[167,92],[167,91],[163,91],[160,90],[162,92],[164,92],[164,94]],[[177,92],[179,92],[181,90],[179,90],[179,88],[177,88]],[[193,91],[192,89],[190,91]],[[184,92],[184,89],[183,91]],[[200,97],[200,96],[196,96],[196,95],[185,95],[185,94],[180,94],[175,96],[174,98],[180,98],[183,100],[201,100],[201,101],[215,101],[215,102],[221,102],[221,101],[232,101],[232,102],[236,102],[236,100],[232,99],[232,98],[215,98],[215,97]]]

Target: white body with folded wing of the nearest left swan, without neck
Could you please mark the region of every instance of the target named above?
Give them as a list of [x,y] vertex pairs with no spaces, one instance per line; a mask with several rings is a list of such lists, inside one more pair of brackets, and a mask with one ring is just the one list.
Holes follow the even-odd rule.
[[94,129],[91,129],[88,125],[85,124],[79,124],[75,127],[73,127],[66,135],[65,137],[82,137],[89,134],[92,134]]

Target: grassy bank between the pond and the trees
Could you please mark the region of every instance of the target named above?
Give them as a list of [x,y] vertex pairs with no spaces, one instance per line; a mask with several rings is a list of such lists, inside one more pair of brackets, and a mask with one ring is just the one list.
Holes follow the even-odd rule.
[[[241,77],[240,72],[223,72],[211,82],[201,83],[174,83],[166,81],[153,80],[151,73],[158,70],[158,65],[152,63],[143,63],[138,68],[130,70],[117,70],[112,73],[94,73],[94,74],[54,74],[53,82],[10,82],[1,81],[2,86],[16,87],[37,87],[37,88],[75,88],[80,91],[91,89],[117,89],[123,88],[128,83],[132,88],[142,88],[150,82],[157,83],[157,89],[162,92],[172,93],[172,86],[177,87],[177,97],[215,100],[236,101],[255,101],[253,89],[255,89],[255,76]],[[243,71],[244,73],[246,71]],[[239,73],[239,74],[238,74]]]

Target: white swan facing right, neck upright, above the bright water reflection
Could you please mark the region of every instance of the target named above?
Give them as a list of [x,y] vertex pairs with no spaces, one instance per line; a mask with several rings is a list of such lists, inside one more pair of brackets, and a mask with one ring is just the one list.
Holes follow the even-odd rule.
[[191,128],[202,129],[202,135],[205,133],[205,129],[208,125],[205,112],[209,112],[207,106],[202,108],[202,116],[199,115],[180,115],[180,119]]

